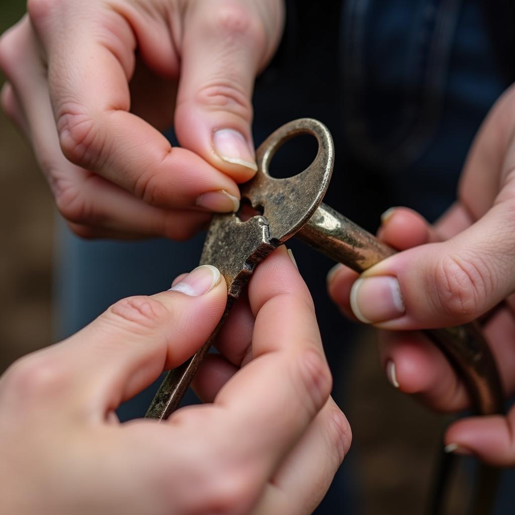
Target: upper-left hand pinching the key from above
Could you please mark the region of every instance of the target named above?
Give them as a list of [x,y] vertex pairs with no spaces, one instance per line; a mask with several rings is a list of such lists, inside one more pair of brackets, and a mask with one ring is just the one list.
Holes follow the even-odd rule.
[[[0,41],[2,106],[72,230],[184,239],[237,210],[283,17],[281,0],[29,0]],[[174,117],[182,148],[158,131]]]

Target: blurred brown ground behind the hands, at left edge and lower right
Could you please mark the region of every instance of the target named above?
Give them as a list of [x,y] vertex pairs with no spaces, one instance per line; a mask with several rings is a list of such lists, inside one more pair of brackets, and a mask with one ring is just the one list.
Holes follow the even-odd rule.
[[[24,5],[2,0],[0,32],[21,17]],[[52,339],[53,224],[53,200],[32,152],[0,113],[0,370]],[[425,513],[444,420],[388,384],[373,332],[364,331],[361,340],[347,413],[360,456],[359,513]],[[461,512],[459,497],[449,513]]]

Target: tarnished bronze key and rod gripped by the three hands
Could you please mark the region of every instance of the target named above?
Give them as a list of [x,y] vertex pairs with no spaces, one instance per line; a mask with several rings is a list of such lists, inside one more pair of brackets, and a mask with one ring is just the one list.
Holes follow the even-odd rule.
[[[270,161],[286,141],[298,134],[313,134],[318,152],[302,173],[287,179],[270,177]],[[206,344],[190,361],[171,371],[153,400],[147,417],[163,419],[177,408],[198,365],[229,313],[255,266],[297,234],[335,261],[362,272],[387,258],[394,250],[321,200],[331,178],[334,147],[328,129],[311,118],[290,122],[273,132],[256,152],[258,173],[242,185],[242,199],[262,212],[247,221],[235,214],[216,215],[204,244],[201,264],[216,266],[228,285],[224,317]],[[449,357],[464,378],[480,414],[501,413],[502,390],[495,362],[474,324],[432,329],[426,334]]]

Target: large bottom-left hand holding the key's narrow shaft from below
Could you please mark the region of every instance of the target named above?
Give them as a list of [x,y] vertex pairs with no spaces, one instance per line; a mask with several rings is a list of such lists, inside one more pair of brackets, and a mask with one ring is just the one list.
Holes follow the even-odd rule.
[[208,404],[120,424],[114,409],[182,363],[224,311],[201,267],[114,304],[0,380],[3,513],[311,513],[350,444],[313,303],[282,248],[255,271],[196,378]]

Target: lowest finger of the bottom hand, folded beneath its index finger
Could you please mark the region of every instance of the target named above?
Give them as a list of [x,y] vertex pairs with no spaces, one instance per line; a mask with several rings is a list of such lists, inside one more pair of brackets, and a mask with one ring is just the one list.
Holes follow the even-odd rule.
[[329,399],[267,485],[253,515],[313,513],[349,451],[351,440],[349,422]]

